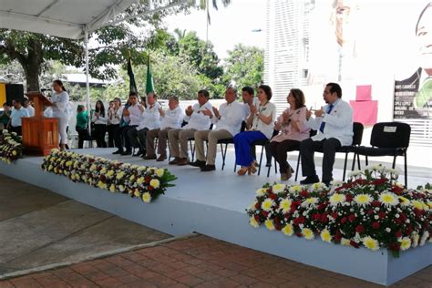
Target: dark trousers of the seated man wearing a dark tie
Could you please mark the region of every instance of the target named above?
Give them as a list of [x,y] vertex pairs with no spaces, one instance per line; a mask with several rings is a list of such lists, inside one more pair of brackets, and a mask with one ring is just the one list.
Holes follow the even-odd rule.
[[341,148],[338,139],[330,138],[321,141],[305,139],[300,143],[300,153],[302,155],[303,176],[316,176],[314,151],[322,150],[323,156],[323,181],[333,180],[334,155],[336,150]]

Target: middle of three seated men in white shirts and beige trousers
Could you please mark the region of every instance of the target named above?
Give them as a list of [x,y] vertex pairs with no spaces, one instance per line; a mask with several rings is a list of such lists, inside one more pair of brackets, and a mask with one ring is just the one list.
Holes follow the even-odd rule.
[[[170,140],[170,153],[174,157],[170,161],[171,165],[186,165],[188,159],[188,139],[194,137],[195,131],[209,129],[211,120],[209,116],[204,115],[202,112],[209,109],[211,110],[211,103],[209,102],[209,91],[198,91],[198,103],[186,108],[186,116],[184,120],[188,122],[182,129],[171,129],[168,131],[168,139]],[[179,149],[180,142],[180,149]]]

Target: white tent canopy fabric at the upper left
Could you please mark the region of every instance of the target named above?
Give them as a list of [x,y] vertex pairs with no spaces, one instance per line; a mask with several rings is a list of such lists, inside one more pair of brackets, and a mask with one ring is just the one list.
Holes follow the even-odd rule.
[[72,39],[108,23],[137,0],[0,0],[0,28]]

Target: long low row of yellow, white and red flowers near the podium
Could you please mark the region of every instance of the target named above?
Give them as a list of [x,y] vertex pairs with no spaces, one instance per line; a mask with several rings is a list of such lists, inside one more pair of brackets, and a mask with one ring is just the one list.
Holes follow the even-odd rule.
[[110,159],[51,150],[42,169],[64,175],[74,182],[83,182],[110,192],[129,194],[149,203],[164,194],[177,178],[166,169],[121,163]]

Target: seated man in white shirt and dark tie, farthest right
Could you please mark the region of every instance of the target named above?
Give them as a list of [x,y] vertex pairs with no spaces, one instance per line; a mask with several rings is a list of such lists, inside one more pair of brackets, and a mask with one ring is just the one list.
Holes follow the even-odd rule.
[[353,109],[342,99],[342,89],[336,83],[328,83],[324,88],[324,108],[314,110],[315,118],[311,118],[311,110],[306,111],[306,125],[317,130],[317,134],[300,143],[302,155],[302,172],[306,176],[300,184],[319,182],[314,163],[314,151],[323,149],[323,183],[329,185],[333,180],[334,155],[341,146],[353,142]]

